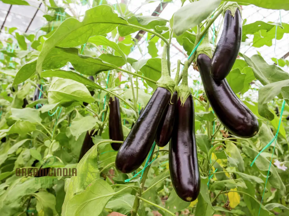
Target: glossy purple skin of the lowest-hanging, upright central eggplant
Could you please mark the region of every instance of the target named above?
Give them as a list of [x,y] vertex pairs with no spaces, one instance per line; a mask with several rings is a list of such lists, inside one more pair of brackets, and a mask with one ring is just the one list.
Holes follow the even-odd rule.
[[190,95],[183,106],[180,100],[177,102],[169,147],[173,187],[186,202],[196,200],[201,187],[194,122],[194,101]]

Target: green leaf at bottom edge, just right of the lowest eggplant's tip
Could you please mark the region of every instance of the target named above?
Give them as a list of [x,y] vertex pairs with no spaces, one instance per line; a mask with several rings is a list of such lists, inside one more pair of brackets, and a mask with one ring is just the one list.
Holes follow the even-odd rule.
[[205,178],[201,176],[201,190],[198,196],[198,204],[195,215],[212,216],[215,212],[210,200],[210,194],[207,185],[208,181],[208,177]]

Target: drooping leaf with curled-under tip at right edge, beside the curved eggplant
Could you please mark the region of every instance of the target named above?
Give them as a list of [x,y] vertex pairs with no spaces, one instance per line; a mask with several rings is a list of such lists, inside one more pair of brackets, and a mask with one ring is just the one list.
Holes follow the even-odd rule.
[[280,93],[284,99],[289,99],[289,79],[274,82],[259,89],[258,112],[261,116],[268,120],[274,119],[274,114],[269,110],[268,102]]

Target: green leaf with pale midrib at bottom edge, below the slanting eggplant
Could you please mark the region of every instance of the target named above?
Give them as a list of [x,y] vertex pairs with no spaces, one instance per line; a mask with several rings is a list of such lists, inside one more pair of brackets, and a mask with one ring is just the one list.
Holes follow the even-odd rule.
[[62,211],[62,215],[80,216],[88,212],[99,215],[113,195],[114,190],[106,181],[96,179],[84,192],[73,196],[68,201],[67,208],[63,209],[65,211]]

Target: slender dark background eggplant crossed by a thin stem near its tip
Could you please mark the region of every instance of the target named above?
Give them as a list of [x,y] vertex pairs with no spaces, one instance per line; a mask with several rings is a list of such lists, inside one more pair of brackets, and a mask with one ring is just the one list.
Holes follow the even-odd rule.
[[[119,100],[114,96],[109,98],[109,119],[108,132],[109,138],[115,141],[123,141],[123,126],[121,124],[121,110],[119,108]],[[113,150],[117,151],[121,147],[121,143],[110,143]]]

